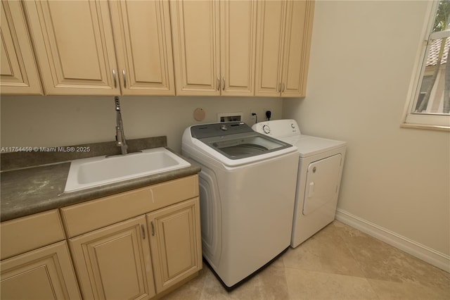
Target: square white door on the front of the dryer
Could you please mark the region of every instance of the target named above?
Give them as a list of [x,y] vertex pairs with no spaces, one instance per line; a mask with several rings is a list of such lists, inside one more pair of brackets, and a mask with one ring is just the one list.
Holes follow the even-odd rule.
[[342,155],[336,154],[308,165],[303,214],[308,215],[338,196]]

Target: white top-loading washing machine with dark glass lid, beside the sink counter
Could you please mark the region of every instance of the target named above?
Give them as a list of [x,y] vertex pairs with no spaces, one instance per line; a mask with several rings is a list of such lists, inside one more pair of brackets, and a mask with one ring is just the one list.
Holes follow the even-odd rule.
[[181,149],[201,166],[203,256],[236,287],[290,246],[297,148],[229,122],[186,128]]

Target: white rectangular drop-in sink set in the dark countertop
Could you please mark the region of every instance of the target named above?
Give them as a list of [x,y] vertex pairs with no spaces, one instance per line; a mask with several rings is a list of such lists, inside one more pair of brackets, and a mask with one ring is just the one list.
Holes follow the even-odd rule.
[[162,147],[125,155],[77,159],[70,163],[64,192],[108,185],[189,165],[183,158]]

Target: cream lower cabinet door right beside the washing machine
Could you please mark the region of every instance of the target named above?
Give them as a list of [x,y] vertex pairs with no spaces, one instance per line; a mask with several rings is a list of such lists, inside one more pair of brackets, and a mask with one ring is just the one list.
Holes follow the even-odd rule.
[[147,214],[158,293],[202,268],[198,197]]

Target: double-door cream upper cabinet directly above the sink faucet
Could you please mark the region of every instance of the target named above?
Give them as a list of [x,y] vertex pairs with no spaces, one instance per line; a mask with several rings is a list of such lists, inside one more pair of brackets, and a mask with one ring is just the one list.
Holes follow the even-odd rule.
[[24,3],[46,94],[174,94],[167,4]]

